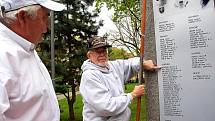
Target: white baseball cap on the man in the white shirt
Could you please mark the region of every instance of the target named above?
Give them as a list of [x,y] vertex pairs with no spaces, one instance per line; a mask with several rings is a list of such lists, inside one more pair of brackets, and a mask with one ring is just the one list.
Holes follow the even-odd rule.
[[65,9],[63,4],[52,0],[0,0],[1,8],[3,7],[5,12],[37,4],[53,11],[62,11]]

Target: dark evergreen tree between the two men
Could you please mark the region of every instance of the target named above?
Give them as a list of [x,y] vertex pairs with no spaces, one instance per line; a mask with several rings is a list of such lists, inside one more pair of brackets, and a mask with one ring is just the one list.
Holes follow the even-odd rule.
[[[67,10],[55,13],[55,89],[65,95],[69,106],[69,120],[72,121],[75,120],[73,104],[80,83],[81,65],[86,59],[86,40],[97,34],[102,23],[96,22],[97,13],[87,11],[93,0],[62,2]],[[48,68],[50,67],[49,35],[46,35],[44,42],[38,47],[39,54]]]

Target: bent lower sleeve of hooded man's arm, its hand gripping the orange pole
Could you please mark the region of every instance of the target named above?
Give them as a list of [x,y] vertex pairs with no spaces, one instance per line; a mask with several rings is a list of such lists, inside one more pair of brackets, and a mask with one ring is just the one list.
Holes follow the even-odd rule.
[[113,97],[101,78],[90,71],[82,74],[80,92],[98,116],[118,115],[125,111],[132,100],[130,93]]

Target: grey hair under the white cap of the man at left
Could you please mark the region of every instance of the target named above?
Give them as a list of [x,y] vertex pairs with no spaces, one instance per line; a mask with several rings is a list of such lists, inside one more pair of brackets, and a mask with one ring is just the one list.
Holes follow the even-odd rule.
[[30,16],[32,19],[35,19],[37,16],[37,10],[40,9],[41,6],[40,5],[31,5],[31,6],[26,6],[23,8],[20,8],[18,10],[14,10],[14,11],[9,11],[6,13],[2,13],[0,15],[0,18],[6,22],[7,24],[10,24],[14,21],[17,20],[17,13],[19,13],[20,11],[26,11],[27,12],[27,16]]

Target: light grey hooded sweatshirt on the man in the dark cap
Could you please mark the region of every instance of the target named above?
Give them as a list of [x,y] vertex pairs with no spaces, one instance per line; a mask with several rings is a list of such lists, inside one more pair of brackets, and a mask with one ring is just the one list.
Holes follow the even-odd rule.
[[80,93],[83,97],[84,121],[129,121],[132,100],[124,93],[124,82],[139,71],[139,58],[108,62],[101,68],[89,60],[82,65]]

